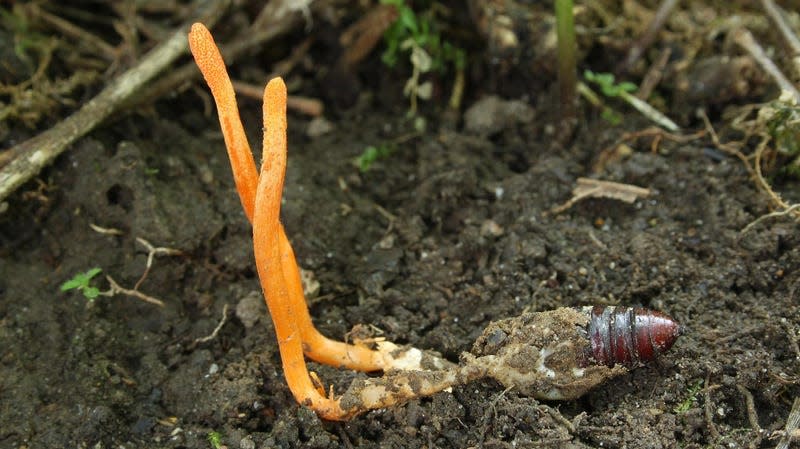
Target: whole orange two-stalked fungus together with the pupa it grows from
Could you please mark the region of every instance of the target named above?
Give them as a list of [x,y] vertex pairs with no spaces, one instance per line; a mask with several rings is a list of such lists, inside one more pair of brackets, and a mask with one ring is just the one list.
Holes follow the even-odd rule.
[[[346,343],[325,337],[311,320],[299,267],[279,220],[287,151],[286,85],[275,78],[264,90],[259,170],[211,33],[194,24],[189,44],[216,101],[236,189],[253,225],[256,268],[278,335],[286,382],[297,402],[320,417],[347,420],[485,377],[537,398],[574,399],[654,359],[677,339],[680,327],[666,315],[620,307],[564,307],[493,322],[458,364],[433,351],[387,341]],[[305,358],[384,374],[356,378],[344,394],[334,395],[333,387],[329,393],[308,372]]]

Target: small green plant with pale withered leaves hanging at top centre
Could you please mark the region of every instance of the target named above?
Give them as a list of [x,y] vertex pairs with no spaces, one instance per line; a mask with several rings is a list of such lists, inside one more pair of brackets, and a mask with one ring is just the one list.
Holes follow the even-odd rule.
[[408,54],[412,67],[411,77],[406,82],[403,94],[409,97],[409,115],[416,115],[417,98],[430,99],[433,85],[422,81],[423,74],[445,73],[453,66],[463,70],[467,63],[466,52],[444,40],[435,20],[434,8],[417,14],[404,0],[381,0],[381,3],[397,8],[397,20],[383,34],[386,50],[381,59],[389,67],[395,67],[401,54]]

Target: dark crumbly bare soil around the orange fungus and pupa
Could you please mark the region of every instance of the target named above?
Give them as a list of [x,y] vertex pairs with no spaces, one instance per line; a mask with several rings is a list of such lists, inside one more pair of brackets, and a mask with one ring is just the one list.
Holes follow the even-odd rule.
[[[209,432],[229,448],[777,444],[769,437],[800,395],[800,233],[788,217],[741,232],[770,212],[741,161],[707,137],[665,139],[657,151],[640,139],[599,177],[649,197],[553,214],[602,149],[649,124],[629,112],[612,127],[584,108],[556,145],[548,86],[514,98],[535,114],[488,136],[439,123],[433,109],[415,134],[403,100],[387,107],[371,94],[402,91],[386,83],[329,114],[321,137],[289,117],[282,219],[320,284],[309,302],[323,333],[343,339],[366,325],[457,362],[493,320],[608,304],[675,318],[684,334],[673,349],[574,401],[486,380],[321,421],[287,389],[266,308],[253,311],[250,226],[216,118],[187,92],[80,140],[0,216],[0,447],[200,448]],[[240,107],[259,142],[260,105]],[[682,111],[672,110],[690,120]],[[354,165],[392,140],[388,158]],[[775,187],[797,201],[796,181]],[[105,275],[133,288],[148,259],[137,238],[181,251],[155,257],[139,286],[164,307],[59,291],[93,267],[101,289]],[[352,378],[311,366],[340,391]]]

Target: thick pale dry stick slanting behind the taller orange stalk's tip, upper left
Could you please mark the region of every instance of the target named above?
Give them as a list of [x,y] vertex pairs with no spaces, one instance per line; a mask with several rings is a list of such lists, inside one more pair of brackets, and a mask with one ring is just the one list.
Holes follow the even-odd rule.
[[[198,16],[205,22],[216,22],[227,2],[203,2]],[[193,18],[189,21],[196,21]],[[0,201],[19,186],[36,176],[75,140],[83,137],[119,110],[121,105],[150,81],[186,49],[186,30],[189,24],[173,31],[169,39],[158,44],[141,61],[89,100],[80,110],[43,133],[12,147],[13,159],[0,168]]]

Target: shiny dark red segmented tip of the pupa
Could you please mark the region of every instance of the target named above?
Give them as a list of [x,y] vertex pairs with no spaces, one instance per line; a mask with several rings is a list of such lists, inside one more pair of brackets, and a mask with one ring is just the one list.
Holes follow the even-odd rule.
[[642,308],[591,308],[590,363],[629,368],[654,360],[680,335],[680,325],[667,315]]

